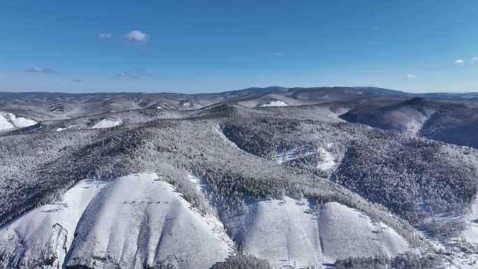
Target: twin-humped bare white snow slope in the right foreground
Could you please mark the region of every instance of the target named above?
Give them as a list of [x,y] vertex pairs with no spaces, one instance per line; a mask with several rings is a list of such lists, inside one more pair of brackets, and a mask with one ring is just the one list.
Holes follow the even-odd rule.
[[247,217],[245,252],[268,259],[273,268],[305,268],[349,256],[395,256],[407,241],[382,223],[340,203],[326,203],[319,213],[307,201],[254,203]]

